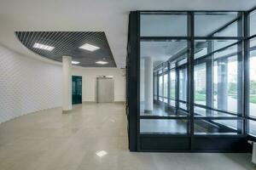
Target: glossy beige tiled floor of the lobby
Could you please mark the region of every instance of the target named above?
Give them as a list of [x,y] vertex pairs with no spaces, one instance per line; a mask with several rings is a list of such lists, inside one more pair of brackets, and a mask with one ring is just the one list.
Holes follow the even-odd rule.
[[69,114],[57,108],[1,124],[0,169],[240,170],[253,164],[249,154],[131,153],[124,105],[85,103]]

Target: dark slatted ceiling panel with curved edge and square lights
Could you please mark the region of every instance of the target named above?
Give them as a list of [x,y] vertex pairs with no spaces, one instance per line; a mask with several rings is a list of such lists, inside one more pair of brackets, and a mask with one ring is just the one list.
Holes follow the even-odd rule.
[[[72,56],[73,60],[79,61],[79,66],[116,67],[103,31],[16,31],[15,34],[26,48],[48,59],[62,61],[62,56],[68,55]],[[33,48],[36,42],[55,48],[52,51]],[[99,49],[90,52],[79,48],[85,43],[99,47]],[[99,60],[107,61],[108,64],[96,64]]]

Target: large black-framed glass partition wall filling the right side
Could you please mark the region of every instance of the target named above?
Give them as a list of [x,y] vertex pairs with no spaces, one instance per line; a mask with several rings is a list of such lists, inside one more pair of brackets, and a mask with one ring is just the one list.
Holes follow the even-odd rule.
[[136,150],[247,151],[256,135],[256,13],[131,13]]

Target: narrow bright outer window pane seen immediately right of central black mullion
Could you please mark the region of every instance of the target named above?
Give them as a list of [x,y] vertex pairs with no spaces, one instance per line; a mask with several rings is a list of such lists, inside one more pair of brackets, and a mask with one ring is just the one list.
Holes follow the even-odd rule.
[[195,103],[200,105],[207,104],[207,69],[206,64],[195,65]]

